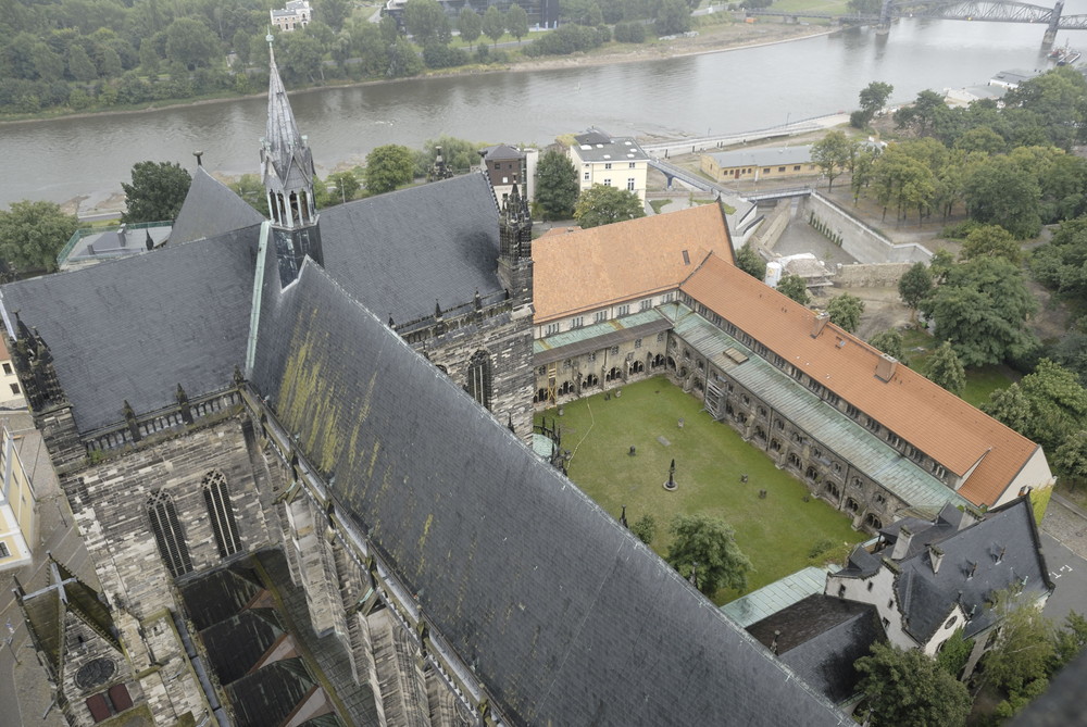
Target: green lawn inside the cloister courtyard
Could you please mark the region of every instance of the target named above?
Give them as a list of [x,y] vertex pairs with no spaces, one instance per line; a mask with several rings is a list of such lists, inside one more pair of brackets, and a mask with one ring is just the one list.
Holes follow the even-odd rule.
[[[561,417],[554,410],[545,416],[557,418],[562,446],[573,452],[571,479],[615,517],[626,505],[630,524],[652,514],[658,526],[652,546],[662,555],[676,514],[721,517],[736,529],[736,541],[754,566],[748,576],[750,591],[804,566],[840,561],[849,546],[864,539],[823,501],[804,502],[803,485],[774,467],[730,427],[713,422],[698,400],[664,378],[624,387],[622,397],[597,394],[563,410]],[[632,446],[634,456],[628,453]],[[673,459],[679,489],[669,492],[663,484]],[[747,484],[740,482],[742,474],[748,475]],[[763,489],[767,494],[760,499]],[[813,547],[821,542],[824,552],[812,559]],[[725,603],[737,596],[721,590],[714,601]]]

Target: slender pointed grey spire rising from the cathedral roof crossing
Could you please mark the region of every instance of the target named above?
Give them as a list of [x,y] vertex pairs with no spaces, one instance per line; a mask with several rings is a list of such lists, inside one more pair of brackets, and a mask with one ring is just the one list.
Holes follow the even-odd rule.
[[313,154],[305,137],[298,133],[287,90],[279,78],[268,35],[268,121],[261,139],[261,167],[272,217],[272,237],[279,261],[279,281],[296,277],[309,255],[323,263],[321,231],[313,200]]

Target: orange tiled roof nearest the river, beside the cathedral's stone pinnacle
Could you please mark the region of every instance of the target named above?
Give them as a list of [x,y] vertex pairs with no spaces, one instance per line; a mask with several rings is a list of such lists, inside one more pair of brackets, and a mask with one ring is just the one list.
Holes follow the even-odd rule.
[[552,230],[533,242],[535,323],[676,288],[711,251],[733,259],[717,204]]

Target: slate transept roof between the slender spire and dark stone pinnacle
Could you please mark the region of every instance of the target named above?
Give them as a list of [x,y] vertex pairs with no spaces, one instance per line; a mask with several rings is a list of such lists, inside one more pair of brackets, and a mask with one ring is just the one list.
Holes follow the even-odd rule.
[[483,174],[348,202],[321,215],[325,270],[398,324],[502,289],[498,204]]

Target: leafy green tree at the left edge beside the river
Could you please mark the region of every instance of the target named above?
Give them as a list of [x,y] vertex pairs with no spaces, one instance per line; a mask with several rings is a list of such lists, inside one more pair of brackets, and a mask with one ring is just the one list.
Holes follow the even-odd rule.
[[57,254],[78,227],[55,202],[12,202],[0,210],[0,254],[20,271],[55,271]]

